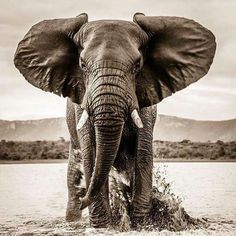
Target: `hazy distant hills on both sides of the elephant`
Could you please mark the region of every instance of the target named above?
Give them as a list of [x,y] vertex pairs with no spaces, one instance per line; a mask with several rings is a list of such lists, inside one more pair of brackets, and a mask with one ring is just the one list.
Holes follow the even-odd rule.
[[[0,120],[0,139],[35,141],[69,139],[65,118],[26,121]],[[160,115],[154,130],[155,140],[194,142],[236,141],[236,119],[198,121]]]

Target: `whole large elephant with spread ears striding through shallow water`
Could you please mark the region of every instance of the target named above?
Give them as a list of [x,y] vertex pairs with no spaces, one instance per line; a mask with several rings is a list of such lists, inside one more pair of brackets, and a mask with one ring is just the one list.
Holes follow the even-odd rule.
[[91,226],[111,225],[111,170],[131,189],[132,224],[145,221],[156,104],[206,75],[215,50],[211,31],[174,16],[136,13],[133,22],[89,22],[82,13],[29,30],[15,66],[35,87],[67,97],[68,221],[79,220],[88,207]]

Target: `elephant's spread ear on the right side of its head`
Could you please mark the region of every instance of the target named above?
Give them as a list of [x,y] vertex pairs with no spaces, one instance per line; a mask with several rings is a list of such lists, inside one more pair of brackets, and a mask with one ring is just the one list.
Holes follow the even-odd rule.
[[140,107],[160,102],[209,70],[215,54],[214,35],[193,20],[147,17],[134,21],[148,35],[143,70],[137,78]]

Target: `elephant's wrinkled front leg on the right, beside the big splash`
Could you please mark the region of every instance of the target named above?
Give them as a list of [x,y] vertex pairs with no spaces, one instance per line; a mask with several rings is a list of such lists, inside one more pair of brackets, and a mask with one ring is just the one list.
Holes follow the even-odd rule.
[[132,223],[133,226],[145,223],[151,209],[153,173],[153,127],[156,120],[156,107],[144,108],[140,112],[143,129],[137,136],[137,154],[133,178]]

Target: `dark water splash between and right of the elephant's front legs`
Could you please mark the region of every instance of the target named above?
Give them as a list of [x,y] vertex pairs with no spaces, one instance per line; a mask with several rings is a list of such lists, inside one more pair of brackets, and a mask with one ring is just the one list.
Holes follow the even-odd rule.
[[[181,206],[182,200],[171,192],[170,183],[165,179],[165,173],[156,169],[153,177],[152,207],[149,217],[137,229],[180,231],[206,227],[204,220],[194,219]],[[128,231],[131,229],[131,190],[120,179],[111,176],[110,202],[112,222],[115,229]]]

